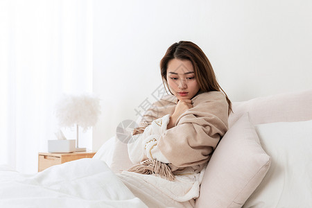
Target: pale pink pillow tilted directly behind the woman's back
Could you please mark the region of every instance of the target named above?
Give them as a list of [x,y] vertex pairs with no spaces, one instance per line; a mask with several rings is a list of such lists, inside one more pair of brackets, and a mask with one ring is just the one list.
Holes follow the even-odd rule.
[[229,128],[212,155],[196,207],[242,207],[270,167],[248,114]]

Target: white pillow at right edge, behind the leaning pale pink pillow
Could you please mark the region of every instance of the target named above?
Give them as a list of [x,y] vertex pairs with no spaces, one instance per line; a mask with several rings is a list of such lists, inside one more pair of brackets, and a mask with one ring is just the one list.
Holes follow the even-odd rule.
[[244,207],[312,207],[312,120],[256,130],[272,164]]

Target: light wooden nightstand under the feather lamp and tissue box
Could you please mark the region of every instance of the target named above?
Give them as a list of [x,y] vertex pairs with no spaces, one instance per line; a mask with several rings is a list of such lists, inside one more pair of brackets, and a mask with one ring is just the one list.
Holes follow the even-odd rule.
[[39,153],[38,172],[57,164],[73,161],[75,159],[92,158],[94,152],[73,152],[73,153]]

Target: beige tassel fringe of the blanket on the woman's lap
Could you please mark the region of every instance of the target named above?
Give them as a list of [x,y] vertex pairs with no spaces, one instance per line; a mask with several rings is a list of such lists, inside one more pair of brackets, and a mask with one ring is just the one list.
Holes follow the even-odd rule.
[[160,177],[166,180],[175,180],[175,175],[173,175],[169,166],[163,162],[159,162],[156,159],[146,159],[145,161],[132,166],[128,171],[145,175],[154,173],[156,175],[160,175]]

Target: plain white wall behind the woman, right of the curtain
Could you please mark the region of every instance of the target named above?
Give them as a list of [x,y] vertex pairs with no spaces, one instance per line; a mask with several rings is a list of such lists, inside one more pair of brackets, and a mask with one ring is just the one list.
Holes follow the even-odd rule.
[[[193,2],[193,3],[191,3]],[[312,89],[312,1],[94,1],[93,149],[162,83],[168,46],[190,40],[232,101]]]

